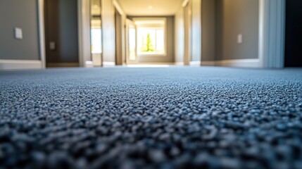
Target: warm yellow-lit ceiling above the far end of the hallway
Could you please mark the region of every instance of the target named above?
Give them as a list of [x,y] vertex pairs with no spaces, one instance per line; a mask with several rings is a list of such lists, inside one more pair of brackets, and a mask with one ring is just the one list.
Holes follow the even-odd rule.
[[127,15],[175,15],[184,0],[117,0]]

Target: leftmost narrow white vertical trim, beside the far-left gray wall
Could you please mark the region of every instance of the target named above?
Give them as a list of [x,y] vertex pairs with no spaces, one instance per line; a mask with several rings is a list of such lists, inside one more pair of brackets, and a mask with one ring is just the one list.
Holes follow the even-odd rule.
[[41,68],[46,68],[45,28],[44,28],[44,0],[38,0],[38,25],[39,25],[39,56]]

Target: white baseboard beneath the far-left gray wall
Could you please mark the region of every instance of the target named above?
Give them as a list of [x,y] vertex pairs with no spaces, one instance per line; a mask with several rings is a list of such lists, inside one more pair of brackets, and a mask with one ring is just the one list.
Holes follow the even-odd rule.
[[42,69],[39,60],[10,60],[0,59],[0,70]]

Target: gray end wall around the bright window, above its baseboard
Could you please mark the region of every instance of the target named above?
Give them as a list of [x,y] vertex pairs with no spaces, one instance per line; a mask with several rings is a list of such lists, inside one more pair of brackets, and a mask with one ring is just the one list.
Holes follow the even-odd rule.
[[140,56],[139,63],[174,63],[174,16],[127,16],[127,18],[167,18],[167,56]]

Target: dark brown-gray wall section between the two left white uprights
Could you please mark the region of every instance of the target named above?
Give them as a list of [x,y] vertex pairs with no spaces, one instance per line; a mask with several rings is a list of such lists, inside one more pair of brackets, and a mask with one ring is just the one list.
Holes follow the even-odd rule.
[[77,1],[46,0],[45,6],[46,63],[78,63]]

